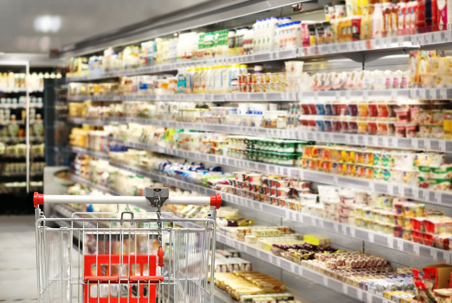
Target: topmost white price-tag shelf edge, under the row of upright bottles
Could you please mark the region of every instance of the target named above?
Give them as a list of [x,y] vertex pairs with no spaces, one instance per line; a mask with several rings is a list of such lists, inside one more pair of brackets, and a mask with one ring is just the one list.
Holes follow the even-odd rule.
[[121,76],[143,75],[160,73],[172,70],[178,70],[193,65],[227,65],[235,63],[253,63],[264,61],[285,60],[293,58],[304,58],[313,56],[326,56],[326,55],[339,55],[349,52],[364,52],[375,51],[384,49],[397,49],[397,48],[410,48],[427,46],[434,44],[442,44],[452,42],[452,31],[445,30],[432,33],[421,33],[414,35],[406,35],[400,37],[385,37],[379,39],[344,42],[334,44],[324,44],[314,47],[300,47],[298,49],[284,50],[284,51],[272,51],[267,53],[258,53],[245,56],[231,56],[224,58],[214,58],[208,60],[196,60],[196,61],[180,61],[170,64],[146,66],[129,70],[111,70],[106,72],[92,73],[89,75],[80,75],[74,77],[67,77],[67,82],[74,81],[90,81],[98,79],[116,78]]

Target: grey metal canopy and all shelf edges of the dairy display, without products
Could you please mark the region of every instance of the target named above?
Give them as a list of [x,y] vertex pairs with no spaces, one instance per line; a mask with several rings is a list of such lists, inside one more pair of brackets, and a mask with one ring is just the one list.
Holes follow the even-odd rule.
[[[242,1],[243,2],[243,1]],[[257,16],[270,16],[277,9],[279,14],[288,14],[290,7],[295,4],[293,1],[236,1],[230,5],[224,4],[215,13],[206,15],[191,12],[188,18],[180,23],[174,23],[175,19],[169,17],[165,21],[151,23],[145,27],[143,33],[125,33],[104,35],[100,42],[95,39],[74,44],[61,51],[63,55],[83,55],[94,53],[105,47],[130,44],[136,41],[171,34],[179,30],[198,28],[206,24],[212,24],[221,20],[223,27],[236,27],[232,24],[252,23],[250,20]],[[313,10],[318,8],[317,4],[311,1],[302,2],[307,8]],[[212,4],[213,5],[213,4]],[[217,7],[218,9],[219,7]],[[212,9],[211,6],[206,10]],[[266,11],[270,9],[270,11]],[[213,12],[214,10],[211,10]],[[240,14],[237,13],[240,11]],[[205,12],[205,11],[203,11]],[[317,12],[319,13],[319,12]],[[320,12],[321,13],[321,12]],[[301,12],[300,14],[304,14]],[[174,16],[177,18],[177,14]],[[216,18],[216,21],[214,21]],[[231,24],[231,25],[229,25]],[[159,28],[162,26],[162,28]],[[127,43],[126,43],[127,42]],[[452,30],[449,28],[440,32],[420,33],[410,36],[385,37],[366,41],[345,42],[317,47],[300,47],[293,50],[272,51],[268,53],[258,53],[246,56],[235,56],[226,58],[215,58],[199,61],[182,61],[165,65],[146,66],[128,70],[111,70],[98,72],[89,75],[71,76],[68,82],[86,82],[107,79],[116,79],[121,76],[132,75],[152,75],[164,72],[174,72],[180,68],[193,65],[224,65],[233,63],[268,63],[271,65],[281,65],[287,60],[305,61],[304,70],[307,72],[317,71],[352,71],[352,70],[375,70],[389,69],[398,70],[407,68],[407,51],[413,49],[445,49],[452,43]],[[387,89],[387,90],[347,90],[347,91],[325,91],[325,92],[278,92],[278,93],[228,93],[228,94],[176,94],[176,95],[94,95],[94,96],[68,96],[68,102],[83,102],[91,100],[93,102],[123,102],[123,101],[193,101],[212,102],[219,105],[225,103],[239,102],[298,102],[309,100],[311,102],[324,102],[326,100],[394,100],[394,99],[452,99],[452,89]],[[213,131],[225,134],[259,135],[264,137],[279,137],[297,140],[313,140],[325,143],[339,143],[347,145],[360,145],[367,147],[387,147],[396,149],[417,149],[429,151],[441,151],[452,153],[452,141],[442,139],[420,139],[420,138],[397,138],[377,135],[357,135],[342,133],[327,133],[318,131],[301,131],[292,129],[268,129],[264,127],[250,126],[230,126],[208,123],[191,123],[181,121],[170,121],[165,118],[147,119],[137,117],[111,117],[108,119],[86,119],[81,117],[68,118],[68,122],[74,125],[107,126],[110,124],[139,123],[143,125],[164,126],[194,131]],[[278,174],[288,177],[302,178],[308,181],[331,184],[338,186],[364,189],[375,193],[384,193],[395,196],[405,196],[413,200],[423,201],[429,207],[445,211],[452,214],[452,194],[450,192],[433,191],[428,189],[412,188],[404,185],[391,184],[387,182],[377,182],[373,180],[359,179],[355,177],[345,177],[324,172],[314,172],[296,167],[286,167],[267,163],[258,163],[249,160],[230,158],[222,155],[203,154],[200,152],[186,151],[182,149],[172,149],[161,147],[152,143],[144,142],[118,142],[120,145],[134,149],[142,149],[157,152],[160,154],[187,158],[207,163],[214,163],[225,168],[239,168],[245,170],[255,170],[270,174]],[[162,175],[158,172],[150,172],[143,168],[116,163],[108,158],[108,154],[99,151],[92,151],[75,146],[69,146],[68,151],[74,154],[86,154],[94,158],[109,160],[111,166],[126,170],[132,174],[150,177],[153,180],[166,185],[177,186],[181,189],[196,191],[202,195],[212,195],[217,193],[211,188],[184,182],[174,177]],[[70,175],[71,180],[95,188],[104,193],[121,195],[105,186],[99,186],[93,182]],[[267,205],[259,201],[251,200],[230,193],[221,193],[226,205],[234,205],[247,217],[275,225],[286,225],[302,233],[318,233],[331,238],[335,247],[349,250],[359,250],[377,256],[387,258],[393,266],[415,266],[421,267],[430,263],[452,264],[452,254],[449,251],[430,247],[427,245],[395,238],[391,235],[377,233],[364,228],[353,227],[348,224],[340,224],[328,219],[315,217],[308,214],[299,213],[286,208]],[[372,302],[388,303],[389,300],[377,294],[371,294],[362,289],[340,282],[339,280],[326,277],[306,267],[287,261],[286,259],[273,256],[261,251],[251,244],[236,241],[222,234],[217,234],[217,242],[225,247],[233,247],[248,256],[252,260],[254,269],[266,273],[272,273],[276,278],[287,284],[289,289],[294,290],[297,298],[303,302],[325,302],[322,300],[334,300],[337,302]],[[320,300],[320,301],[319,301]]]

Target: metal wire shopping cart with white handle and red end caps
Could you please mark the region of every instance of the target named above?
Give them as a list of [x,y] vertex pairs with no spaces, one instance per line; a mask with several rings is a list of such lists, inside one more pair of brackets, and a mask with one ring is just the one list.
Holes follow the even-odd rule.
[[[33,202],[39,302],[213,302],[208,279],[214,275],[219,194],[169,197],[167,187],[146,187],[145,196],[35,192]],[[118,210],[95,213],[101,218],[46,218],[39,205],[53,203],[117,204]],[[119,213],[119,204],[151,205],[156,212]],[[164,204],[211,205],[212,211],[206,219],[163,218],[169,214],[161,212]]]

